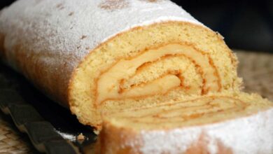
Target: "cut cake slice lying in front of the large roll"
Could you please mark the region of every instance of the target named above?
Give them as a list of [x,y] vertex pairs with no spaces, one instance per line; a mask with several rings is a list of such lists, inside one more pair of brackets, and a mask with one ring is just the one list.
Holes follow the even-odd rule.
[[99,153],[272,153],[273,104],[209,94],[104,115]]

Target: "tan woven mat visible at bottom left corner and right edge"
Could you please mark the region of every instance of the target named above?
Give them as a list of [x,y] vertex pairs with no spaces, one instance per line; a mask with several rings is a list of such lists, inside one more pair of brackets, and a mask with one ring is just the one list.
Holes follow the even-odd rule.
[[[257,92],[273,101],[273,54],[237,50],[239,76],[244,91]],[[36,153],[27,135],[20,133],[12,120],[0,112],[0,153]]]

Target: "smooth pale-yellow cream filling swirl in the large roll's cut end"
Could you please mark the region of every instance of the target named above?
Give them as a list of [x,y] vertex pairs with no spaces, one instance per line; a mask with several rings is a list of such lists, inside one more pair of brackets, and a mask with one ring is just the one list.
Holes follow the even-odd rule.
[[168,44],[160,48],[147,50],[137,57],[130,59],[120,59],[110,69],[102,73],[97,80],[96,104],[101,104],[107,99],[126,99],[132,97],[146,97],[154,94],[164,94],[175,87],[181,86],[182,80],[170,72],[162,78],[158,78],[146,84],[140,84],[127,90],[120,90],[122,80],[128,80],[134,76],[137,69],[147,63],[160,60],[167,55],[183,55],[200,67],[200,73],[203,78],[203,92],[218,91],[221,87],[218,85],[218,76],[216,68],[209,62],[209,57],[204,53],[195,50],[189,45]]

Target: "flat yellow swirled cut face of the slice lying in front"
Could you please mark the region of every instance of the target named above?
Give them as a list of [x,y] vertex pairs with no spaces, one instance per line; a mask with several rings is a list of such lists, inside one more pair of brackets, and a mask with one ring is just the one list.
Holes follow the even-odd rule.
[[130,126],[134,130],[164,130],[218,123],[250,116],[272,107],[271,102],[254,95],[216,94],[183,102],[108,113],[104,120],[110,120],[116,127]]

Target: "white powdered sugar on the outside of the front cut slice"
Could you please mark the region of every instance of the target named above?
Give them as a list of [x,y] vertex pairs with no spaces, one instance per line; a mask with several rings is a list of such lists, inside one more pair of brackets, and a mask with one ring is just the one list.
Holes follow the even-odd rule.
[[[142,130],[139,136],[123,146],[139,145],[141,153],[185,153],[200,137],[207,141],[207,150],[217,154],[219,141],[234,154],[273,153],[273,109],[253,116],[221,123],[175,130]],[[137,151],[137,149],[136,149]]]

